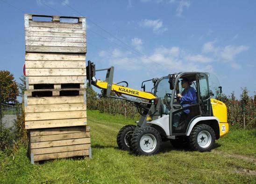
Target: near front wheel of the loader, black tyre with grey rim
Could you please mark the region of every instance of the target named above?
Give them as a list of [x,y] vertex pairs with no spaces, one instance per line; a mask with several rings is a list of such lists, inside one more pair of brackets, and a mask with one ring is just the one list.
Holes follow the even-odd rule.
[[161,136],[153,127],[146,126],[135,130],[131,138],[131,151],[135,155],[154,155],[159,151]]

